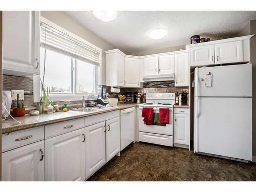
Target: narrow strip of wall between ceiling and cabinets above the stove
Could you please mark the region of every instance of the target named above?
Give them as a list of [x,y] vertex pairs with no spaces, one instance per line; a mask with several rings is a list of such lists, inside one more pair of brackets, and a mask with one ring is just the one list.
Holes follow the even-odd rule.
[[175,46],[175,47],[168,47],[163,49],[151,49],[151,50],[145,50],[145,51],[139,51],[135,53],[125,53],[128,55],[135,55],[135,56],[143,56],[143,55],[152,55],[152,54],[158,54],[158,53],[165,53],[165,52],[172,52],[172,51],[180,51],[180,49],[185,50],[185,45],[181,46]]

